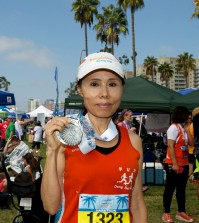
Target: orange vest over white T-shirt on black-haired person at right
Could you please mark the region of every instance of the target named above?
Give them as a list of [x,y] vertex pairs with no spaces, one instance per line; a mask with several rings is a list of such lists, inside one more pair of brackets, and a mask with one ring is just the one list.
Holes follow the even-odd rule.
[[[178,124],[173,124],[173,125],[175,125],[177,130],[178,130],[178,137],[176,139],[176,144],[175,144],[175,147],[174,147],[176,161],[177,161],[177,164],[179,166],[185,166],[185,165],[189,164],[189,161],[188,161],[188,155],[189,155],[188,146],[185,143],[185,137],[183,135],[182,129],[178,126]],[[166,156],[165,163],[173,164],[169,149],[167,149],[167,156]]]

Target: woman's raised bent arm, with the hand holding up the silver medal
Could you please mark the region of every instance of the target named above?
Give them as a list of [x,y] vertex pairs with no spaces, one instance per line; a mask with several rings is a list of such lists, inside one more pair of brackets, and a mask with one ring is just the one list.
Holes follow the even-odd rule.
[[67,118],[54,118],[45,126],[46,163],[41,185],[44,209],[54,215],[60,207],[65,168],[65,147],[57,140],[55,131],[68,126]]

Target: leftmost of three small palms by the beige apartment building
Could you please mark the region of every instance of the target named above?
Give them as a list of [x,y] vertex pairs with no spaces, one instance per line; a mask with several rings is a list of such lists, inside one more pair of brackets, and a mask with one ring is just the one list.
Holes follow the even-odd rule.
[[154,81],[154,77],[156,76],[156,67],[158,66],[158,60],[155,57],[147,57],[144,60],[144,67],[146,68],[146,75],[151,76],[152,81]]

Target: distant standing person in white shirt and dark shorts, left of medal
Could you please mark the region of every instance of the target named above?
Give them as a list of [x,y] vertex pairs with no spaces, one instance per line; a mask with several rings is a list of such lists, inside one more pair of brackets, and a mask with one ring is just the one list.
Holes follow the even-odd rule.
[[[43,140],[43,128],[41,126],[41,122],[37,121],[36,126],[33,129],[34,140],[32,144],[32,149],[34,150],[35,156],[40,156],[40,145]],[[36,150],[35,150],[36,148]]]

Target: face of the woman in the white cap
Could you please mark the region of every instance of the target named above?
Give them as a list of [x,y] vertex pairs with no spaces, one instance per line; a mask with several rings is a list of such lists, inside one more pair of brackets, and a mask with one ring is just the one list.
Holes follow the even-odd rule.
[[94,71],[77,87],[88,113],[99,118],[111,117],[118,109],[122,94],[122,80],[108,70]]

